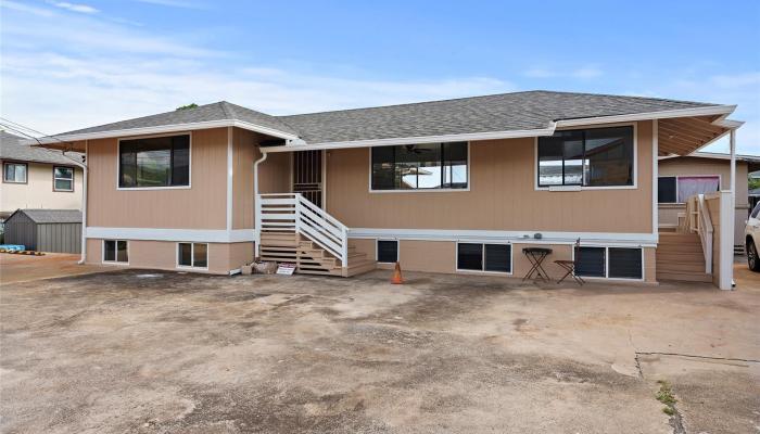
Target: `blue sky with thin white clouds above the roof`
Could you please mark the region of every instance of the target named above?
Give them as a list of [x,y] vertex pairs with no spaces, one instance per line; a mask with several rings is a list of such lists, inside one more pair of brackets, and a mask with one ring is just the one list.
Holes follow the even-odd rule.
[[760,154],[755,0],[0,0],[0,111],[46,133],[190,102],[291,114],[550,89],[738,104],[739,151]]

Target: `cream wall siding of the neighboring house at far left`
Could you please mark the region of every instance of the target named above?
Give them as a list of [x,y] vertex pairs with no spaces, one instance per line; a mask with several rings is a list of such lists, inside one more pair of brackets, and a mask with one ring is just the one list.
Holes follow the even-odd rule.
[[81,168],[73,163],[67,165],[75,168],[73,192],[53,191],[53,166],[28,163],[26,183],[0,181],[0,212],[13,213],[20,208],[81,209]]

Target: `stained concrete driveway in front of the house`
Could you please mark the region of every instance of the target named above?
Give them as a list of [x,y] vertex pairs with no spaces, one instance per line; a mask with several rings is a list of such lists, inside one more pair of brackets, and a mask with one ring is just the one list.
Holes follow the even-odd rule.
[[753,276],[734,292],[389,277],[5,284],[0,431],[758,432]]

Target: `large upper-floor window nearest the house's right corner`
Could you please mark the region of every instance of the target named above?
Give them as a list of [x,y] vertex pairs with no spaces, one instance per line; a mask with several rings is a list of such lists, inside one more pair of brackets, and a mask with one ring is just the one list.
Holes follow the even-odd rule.
[[539,187],[633,186],[633,127],[556,131],[539,138]]

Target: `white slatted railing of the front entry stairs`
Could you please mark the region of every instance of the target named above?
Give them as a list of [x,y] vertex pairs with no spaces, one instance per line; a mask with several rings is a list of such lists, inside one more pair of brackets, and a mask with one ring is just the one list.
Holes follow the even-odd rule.
[[256,203],[259,233],[301,233],[347,266],[349,228],[301,193],[259,194]]

